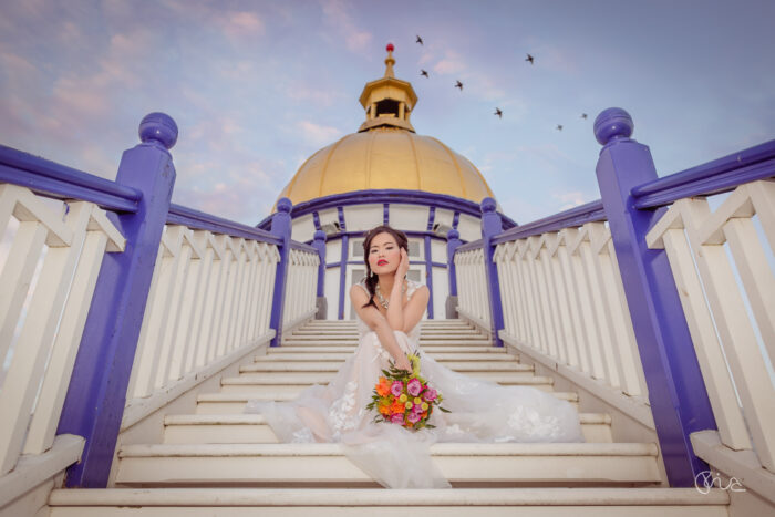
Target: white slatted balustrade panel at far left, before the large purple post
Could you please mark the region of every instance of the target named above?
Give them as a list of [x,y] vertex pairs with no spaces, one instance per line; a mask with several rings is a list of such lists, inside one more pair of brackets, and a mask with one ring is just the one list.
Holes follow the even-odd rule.
[[62,207],[56,213],[31,190],[0,184],[0,238],[18,221],[0,271],[0,364],[9,363],[0,389],[0,475],[22,452],[51,448],[103,255],[124,250],[96,205]]

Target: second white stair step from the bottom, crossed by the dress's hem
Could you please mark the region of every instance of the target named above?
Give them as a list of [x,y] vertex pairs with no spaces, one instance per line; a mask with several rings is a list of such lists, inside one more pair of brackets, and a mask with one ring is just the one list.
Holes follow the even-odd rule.
[[[453,485],[649,486],[660,483],[653,443],[431,446]],[[116,486],[375,486],[339,444],[125,445]],[[547,461],[550,458],[550,461]]]

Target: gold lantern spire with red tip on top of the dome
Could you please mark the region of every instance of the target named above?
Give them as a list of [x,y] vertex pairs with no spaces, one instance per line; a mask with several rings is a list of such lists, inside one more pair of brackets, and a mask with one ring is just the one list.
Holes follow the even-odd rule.
[[385,58],[385,75],[376,81],[371,81],[363,86],[360,102],[366,111],[366,120],[358,130],[369,131],[375,127],[400,127],[414,133],[410,122],[412,110],[417,104],[417,94],[412,84],[395,79],[393,65],[393,43],[388,43]]

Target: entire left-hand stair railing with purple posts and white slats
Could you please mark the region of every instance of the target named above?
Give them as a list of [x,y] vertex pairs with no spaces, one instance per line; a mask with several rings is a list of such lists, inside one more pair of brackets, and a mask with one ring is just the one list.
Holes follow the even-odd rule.
[[172,205],[177,127],[140,134],[115,182],[0,146],[0,508],[79,457],[105,486],[121,430],[314,316],[290,203],[270,232]]

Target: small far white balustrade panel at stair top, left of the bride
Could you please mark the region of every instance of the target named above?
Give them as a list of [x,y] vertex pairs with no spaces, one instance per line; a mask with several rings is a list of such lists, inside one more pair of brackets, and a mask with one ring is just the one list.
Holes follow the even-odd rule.
[[288,254],[288,280],[282,309],[282,328],[288,331],[303,323],[317,312],[318,266],[317,251],[292,249]]

